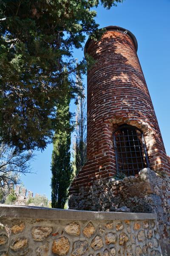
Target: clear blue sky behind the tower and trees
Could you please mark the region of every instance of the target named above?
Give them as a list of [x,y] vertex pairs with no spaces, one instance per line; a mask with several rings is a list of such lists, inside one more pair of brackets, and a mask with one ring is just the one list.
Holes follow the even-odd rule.
[[[167,154],[170,155],[170,0],[125,0],[118,7],[97,9],[100,27],[121,26],[130,30],[138,41],[138,56],[158,118]],[[81,49],[74,57],[82,58]],[[86,78],[85,78],[86,87]],[[75,111],[74,104],[71,111]],[[51,152],[36,152],[33,172],[22,176],[28,190],[51,198]]]

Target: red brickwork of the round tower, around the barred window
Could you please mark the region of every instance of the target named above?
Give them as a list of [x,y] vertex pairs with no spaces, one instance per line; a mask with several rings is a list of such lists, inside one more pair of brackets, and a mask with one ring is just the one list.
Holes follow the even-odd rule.
[[170,172],[134,38],[108,27],[101,41],[88,41],[86,52],[96,60],[88,71],[88,161],[71,191],[116,173],[113,131],[123,123],[143,131],[150,169]]

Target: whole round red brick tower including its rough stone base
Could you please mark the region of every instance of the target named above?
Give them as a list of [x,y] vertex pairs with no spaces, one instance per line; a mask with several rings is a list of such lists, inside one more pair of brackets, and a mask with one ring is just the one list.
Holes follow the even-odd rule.
[[69,209],[157,213],[160,244],[170,253],[170,158],[136,52],[135,36],[116,26],[85,45],[95,60],[88,160],[71,185]]

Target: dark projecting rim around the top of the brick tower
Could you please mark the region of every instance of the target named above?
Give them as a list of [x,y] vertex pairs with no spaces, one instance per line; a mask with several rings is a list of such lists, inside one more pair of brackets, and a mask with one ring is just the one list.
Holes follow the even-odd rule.
[[[102,28],[101,28],[101,29],[102,29]],[[137,50],[138,50],[138,42],[137,42],[137,39],[136,39],[135,35],[133,35],[132,32],[130,32],[129,30],[124,29],[124,28],[122,28],[122,27],[119,27],[119,26],[106,26],[106,27],[104,27],[103,29],[106,29],[107,31],[126,32],[126,34],[129,35],[129,37],[132,39],[133,44],[134,44],[135,49],[136,49],[136,52],[137,52]],[[90,41],[91,41],[91,36],[89,36],[87,42],[85,43],[84,55],[85,55],[86,52],[87,52],[88,44],[90,43]]]

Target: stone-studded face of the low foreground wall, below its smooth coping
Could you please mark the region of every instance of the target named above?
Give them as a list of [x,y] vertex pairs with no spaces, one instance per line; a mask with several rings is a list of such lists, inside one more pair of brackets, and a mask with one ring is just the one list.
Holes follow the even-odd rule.
[[10,256],[162,255],[159,230],[153,218],[138,219],[136,215],[136,220],[127,217],[77,221],[1,216],[0,223],[11,230],[9,238],[5,229],[0,230],[0,256],[6,256],[8,242]]

